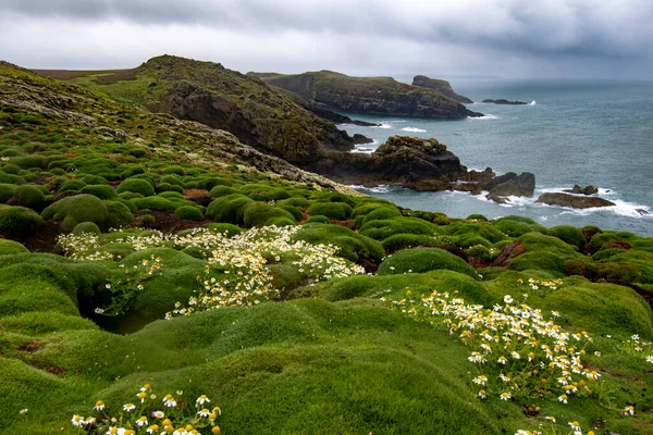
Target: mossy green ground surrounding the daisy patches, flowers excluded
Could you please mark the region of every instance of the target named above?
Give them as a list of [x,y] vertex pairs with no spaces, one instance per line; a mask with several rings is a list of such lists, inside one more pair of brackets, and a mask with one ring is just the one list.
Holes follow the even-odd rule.
[[[98,399],[118,411],[143,383],[209,395],[226,434],[501,434],[550,427],[544,415],[556,415],[557,433],[574,420],[595,433],[653,432],[652,366],[627,344],[632,334],[653,339],[652,239],[545,228],[518,216],[451,220],[321,191],[206,152],[211,139],[192,124],[174,130],[164,119],[70,85],[3,64],[0,73],[84,97],[69,109],[126,133],[0,108],[0,201],[11,202],[0,215],[21,208],[0,226],[3,432],[76,433],[73,413],[89,412]],[[233,236],[274,220],[301,225],[293,241],[333,244],[369,274],[313,284],[292,261],[271,260],[283,301],[167,321],[174,302],[198,287],[201,250],[135,251],[120,239],[151,234],[138,228],[148,225]],[[121,225],[125,232],[107,232]],[[93,250],[113,259],[71,260],[54,246],[60,233],[99,231]],[[493,263],[504,249],[512,260]],[[124,315],[101,320],[94,309],[110,298],[107,284],[151,256],[161,270]],[[555,289],[542,284],[556,278]],[[480,400],[469,348],[445,325],[380,300],[433,289],[485,307],[528,294],[532,307],[559,312],[560,325],[595,338],[603,355],[587,361],[602,374],[601,388],[567,406]],[[636,415],[619,414],[629,402]],[[537,415],[523,413],[530,405],[540,407]]]

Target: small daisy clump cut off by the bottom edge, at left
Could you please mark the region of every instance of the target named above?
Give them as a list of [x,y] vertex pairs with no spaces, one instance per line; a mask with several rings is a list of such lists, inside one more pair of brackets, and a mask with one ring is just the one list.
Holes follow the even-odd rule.
[[196,435],[220,434],[215,423],[222,411],[201,395],[188,403],[183,391],[159,397],[149,384],[144,385],[134,400],[110,412],[102,400],[93,408],[93,415],[74,414],[71,424],[78,432],[102,435]]

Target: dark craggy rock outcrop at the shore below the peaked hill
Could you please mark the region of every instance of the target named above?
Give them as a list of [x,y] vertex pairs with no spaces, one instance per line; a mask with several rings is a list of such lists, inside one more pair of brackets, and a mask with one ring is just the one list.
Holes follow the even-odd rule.
[[401,184],[416,190],[446,190],[466,172],[436,139],[392,136],[371,154],[331,153],[310,167],[344,184]]

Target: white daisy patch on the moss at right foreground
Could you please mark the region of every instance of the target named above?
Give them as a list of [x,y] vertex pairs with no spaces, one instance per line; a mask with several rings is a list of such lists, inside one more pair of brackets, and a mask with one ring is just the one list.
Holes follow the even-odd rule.
[[590,385],[601,377],[583,365],[586,347],[592,344],[586,332],[565,331],[541,310],[509,295],[492,309],[438,291],[420,300],[409,294],[391,303],[407,314],[441,318],[449,334],[471,348],[468,360],[478,372],[471,382],[480,388],[481,399],[544,397],[567,403],[575,396],[590,395]]

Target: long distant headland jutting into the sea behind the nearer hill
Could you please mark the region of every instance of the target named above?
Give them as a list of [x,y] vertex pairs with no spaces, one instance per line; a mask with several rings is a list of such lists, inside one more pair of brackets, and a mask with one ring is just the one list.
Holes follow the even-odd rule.
[[435,89],[407,85],[392,77],[350,77],[331,71],[249,74],[299,95],[316,108],[331,111],[435,119],[482,115]]

